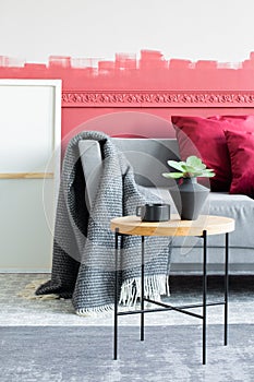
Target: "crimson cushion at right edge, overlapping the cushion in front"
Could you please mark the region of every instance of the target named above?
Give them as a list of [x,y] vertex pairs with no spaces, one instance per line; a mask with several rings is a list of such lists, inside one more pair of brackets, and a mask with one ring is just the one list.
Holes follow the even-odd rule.
[[230,193],[254,199],[254,133],[225,131],[232,170]]

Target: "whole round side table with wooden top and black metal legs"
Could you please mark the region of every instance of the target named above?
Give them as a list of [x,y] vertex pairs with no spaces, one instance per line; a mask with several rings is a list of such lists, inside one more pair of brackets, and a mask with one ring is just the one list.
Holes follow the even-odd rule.
[[[180,220],[178,215],[172,215],[168,222],[142,222],[137,216],[116,217],[110,223],[110,228],[114,232],[116,239],[116,285],[114,285],[114,346],[113,358],[118,358],[118,317],[124,314],[141,314],[141,341],[144,341],[144,314],[146,312],[157,312],[161,310],[174,310],[203,320],[203,365],[206,363],[206,308],[208,306],[225,306],[225,335],[223,344],[228,344],[228,263],[229,263],[229,232],[234,230],[234,219],[225,216],[201,215],[196,220]],[[119,237],[141,236],[141,309],[131,311],[118,311],[118,256],[122,249],[119,248]],[[223,300],[207,302],[207,237],[210,235],[225,235],[225,298]],[[145,277],[145,237],[146,236],[196,236],[203,238],[203,301],[202,303],[188,305],[184,307],[173,307],[169,303],[155,301],[144,296]],[[145,309],[145,301],[152,302],[159,308]],[[202,314],[189,311],[191,308],[203,308]]]

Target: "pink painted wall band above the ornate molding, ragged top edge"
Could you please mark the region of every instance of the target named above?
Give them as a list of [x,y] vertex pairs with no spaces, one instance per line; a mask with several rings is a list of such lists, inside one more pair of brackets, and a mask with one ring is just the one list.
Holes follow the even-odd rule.
[[116,53],[114,61],[71,57],[49,58],[48,64],[24,63],[0,56],[0,77],[62,79],[63,89],[232,89],[253,88],[254,52],[250,59],[229,63],[199,60],[166,60],[161,52],[142,50],[133,55]]

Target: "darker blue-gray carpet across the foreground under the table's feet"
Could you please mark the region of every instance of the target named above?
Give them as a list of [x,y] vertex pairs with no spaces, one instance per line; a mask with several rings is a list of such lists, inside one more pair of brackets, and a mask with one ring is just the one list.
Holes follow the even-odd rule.
[[112,360],[109,326],[2,326],[1,382],[68,381],[253,381],[254,325],[232,324],[229,345],[222,325],[207,331],[202,365],[202,326],[137,326],[119,330],[119,359]]

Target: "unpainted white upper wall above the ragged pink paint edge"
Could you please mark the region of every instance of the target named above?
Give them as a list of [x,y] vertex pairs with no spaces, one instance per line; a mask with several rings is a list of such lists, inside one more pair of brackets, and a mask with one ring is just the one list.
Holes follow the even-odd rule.
[[0,0],[0,55],[47,62],[155,49],[238,62],[254,50],[253,14],[253,0]]

